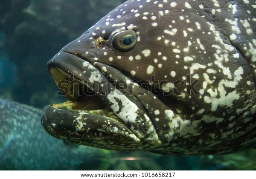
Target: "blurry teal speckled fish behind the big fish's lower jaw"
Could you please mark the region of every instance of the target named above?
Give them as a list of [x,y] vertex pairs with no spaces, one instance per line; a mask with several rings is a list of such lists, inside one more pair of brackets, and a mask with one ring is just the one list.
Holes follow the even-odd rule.
[[71,146],[45,133],[41,110],[0,99],[0,170],[92,170],[107,168],[109,153]]

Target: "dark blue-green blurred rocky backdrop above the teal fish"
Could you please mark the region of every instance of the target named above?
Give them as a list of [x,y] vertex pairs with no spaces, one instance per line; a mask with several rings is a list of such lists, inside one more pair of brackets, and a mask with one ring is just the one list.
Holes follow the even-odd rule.
[[64,101],[56,95],[47,61],[122,2],[0,0],[0,54],[17,65],[16,80],[10,74],[6,81],[15,83],[0,90],[0,96],[38,108]]

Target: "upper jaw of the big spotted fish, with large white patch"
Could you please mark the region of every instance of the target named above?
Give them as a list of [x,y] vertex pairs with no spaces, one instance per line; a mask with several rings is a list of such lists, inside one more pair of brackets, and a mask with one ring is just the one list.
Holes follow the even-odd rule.
[[[98,96],[99,102],[96,102],[96,107],[91,110],[111,109],[137,138],[152,145],[162,144],[140,100],[133,95],[120,92],[115,86],[116,82],[111,82],[105,73],[101,72],[99,66],[96,67],[96,63],[96,61],[61,51],[48,62],[47,67],[55,83],[69,101],[87,101],[94,93]],[[73,86],[76,82],[78,84]],[[85,95],[79,95],[79,89],[82,87],[89,89]],[[103,103],[105,105],[101,105]],[[88,109],[85,108],[85,110]]]

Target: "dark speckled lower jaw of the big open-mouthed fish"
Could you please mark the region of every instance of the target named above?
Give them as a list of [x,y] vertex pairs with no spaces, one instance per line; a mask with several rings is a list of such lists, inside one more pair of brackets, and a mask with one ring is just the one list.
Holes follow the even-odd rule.
[[77,144],[105,147],[125,141],[136,144],[140,139],[109,109],[74,110],[78,102],[67,101],[44,107],[41,124],[51,136]]

